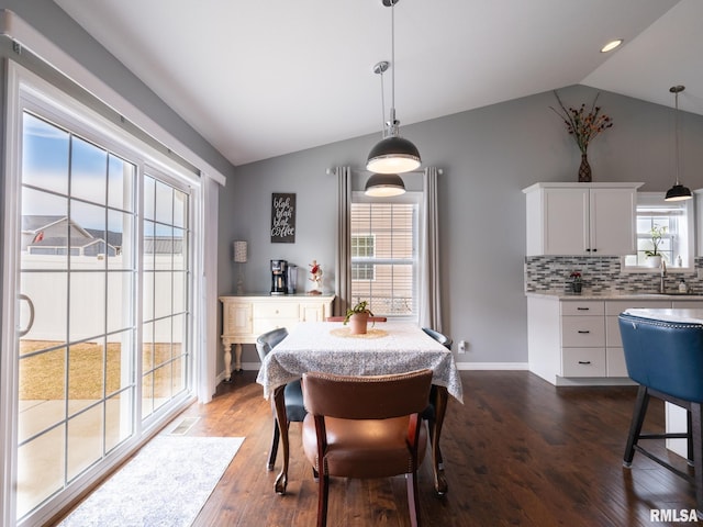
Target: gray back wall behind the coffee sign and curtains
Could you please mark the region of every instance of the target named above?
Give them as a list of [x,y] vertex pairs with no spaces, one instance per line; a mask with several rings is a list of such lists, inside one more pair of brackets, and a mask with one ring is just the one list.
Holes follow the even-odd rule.
[[[596,91],[573,86],[559,93],[567,106],[578,106],[590,104]],[[609,92],[601,93],[599,104],[614,126],[591,144],[593,180],[641,181],[643,191],[666,191],[674,180],[672,109]],[[522,189],[537,181],[577,181],[580,162],[576,143],[550,105],[556,105],[555,97],[545,92],[401,127],[420,148],[424,166],[444,169],[444,329],[455,343],[469,343],[467,354],[457,355],[459,362],[527,361]],[[399,113],[402,119],[402,108]],[[232,292],[236,280],[234,239],[249,242],[249,291],[268,290],[271,258],[305,267],[315,258],[331,279],[336,183],[325,170],[337,165],[360,169],[378,138],[360,137],[237,167],[234,184],[227,184],[220,202],[220,292]],[[691,189],[703,188],[703,117],[682,113],[680,139],[681,180]],[[269,242],[271,192],[297,193],[293,245]],[[325,281],[325,287],[334,282]],[[243,359],[256,360],[253,348],[245,347]]]

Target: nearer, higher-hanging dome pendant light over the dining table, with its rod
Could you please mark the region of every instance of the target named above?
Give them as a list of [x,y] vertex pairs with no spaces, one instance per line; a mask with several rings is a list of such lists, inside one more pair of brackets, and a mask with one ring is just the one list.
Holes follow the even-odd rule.
[[[381,0],[391,8],[391,61],[395,61],[395,11],[399,0]],[[393,66],[394,68],[394,66]],[[420,152],[410,141],[399,135],[400,121],[395,119],[395,70],[391,72],[391,111],[383,128],[383,138],[371,148],[366,168],[377,173],[402,173],[420,167]],[[399,178],[400,179],[400,178]]]

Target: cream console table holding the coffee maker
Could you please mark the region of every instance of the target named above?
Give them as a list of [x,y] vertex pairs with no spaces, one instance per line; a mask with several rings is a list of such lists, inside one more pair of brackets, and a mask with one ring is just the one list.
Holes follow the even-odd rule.
[[242,369],[242,345],[256,344],[263,333],[286,327],[289,330],[300,322],[322,322],[332,316],[334,294],[249,293],[220,296],[222,302],[222,346],[224,347],[225,382],[232,374],[232,345],[234,369]]

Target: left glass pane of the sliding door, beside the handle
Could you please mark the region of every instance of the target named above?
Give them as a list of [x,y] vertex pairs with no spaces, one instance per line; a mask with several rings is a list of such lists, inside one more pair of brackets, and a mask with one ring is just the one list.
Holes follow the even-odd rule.
[[134,429],[136,167],[23,114],[18,518]]

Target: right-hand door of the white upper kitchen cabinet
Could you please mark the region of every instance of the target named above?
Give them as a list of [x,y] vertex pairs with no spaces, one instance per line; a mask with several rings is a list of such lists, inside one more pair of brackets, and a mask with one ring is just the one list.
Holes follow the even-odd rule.
[[637,193],[633,189],[591,189],[591,254],[636,253]]

